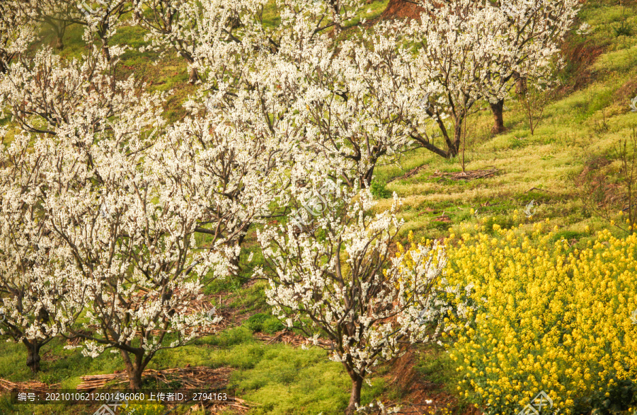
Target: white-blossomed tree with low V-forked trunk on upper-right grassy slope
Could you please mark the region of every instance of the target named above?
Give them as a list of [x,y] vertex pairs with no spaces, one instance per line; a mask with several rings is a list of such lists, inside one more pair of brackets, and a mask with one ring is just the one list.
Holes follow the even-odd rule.
[[[425,12],[401,31],[418,51],[411,62],[411,85],[420,89],[420,105],[408,119],[410,135],[444,158],[458,155],[463,125],[486,91],[503,94],[493,74],[500,71],[500,31],[505,17],[486,0],[422,1]],[[436,124],[444,144],[427,134],[425,112]],[[451,125],[448,121],[451,121]]]

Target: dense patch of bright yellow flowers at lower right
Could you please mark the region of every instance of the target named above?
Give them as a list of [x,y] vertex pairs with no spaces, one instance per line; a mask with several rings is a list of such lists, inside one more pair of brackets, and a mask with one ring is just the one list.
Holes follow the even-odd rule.
[[621,413],[637,402],[637,234],[597,234],[583,250],[550,225],[462,235],[444,284],[473,284],[449,315],[461,394],[486,414],[517,414],[541,391],[551,412]]

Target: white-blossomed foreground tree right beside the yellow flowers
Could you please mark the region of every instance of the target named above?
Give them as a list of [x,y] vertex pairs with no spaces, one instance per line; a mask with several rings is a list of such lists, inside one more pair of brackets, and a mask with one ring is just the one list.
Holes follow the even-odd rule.
[[[321,175],[316,175],[319,179]],[[326,175],[323,175],[325,177]],[[313,181],[311,188],[321,187]],[[365,378],[403,346],[427,341],[420,315],[445,265],[442,247],[420,247],[406,267],[392,257],[401,221],[398,201],[374,214],[368,189],[335,183],[326,209],[301,231],[295,221],[258,233],[268,273],[268,303],[287,327],[301,329],[318,344],[331,341],[330,356],[352,380],[347,413],[360,404]]]

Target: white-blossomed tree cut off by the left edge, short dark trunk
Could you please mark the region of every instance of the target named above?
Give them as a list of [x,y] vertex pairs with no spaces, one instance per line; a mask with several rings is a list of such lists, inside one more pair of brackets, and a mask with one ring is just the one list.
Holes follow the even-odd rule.
[[[6,132],[0,131],[3,142]],[[50,140],[32,151],[30,138],[17,134],[0,152],[0,334],[24,344],[35,373],[40,349],[74,324],[86,290],[64,241],[40,212]]]

